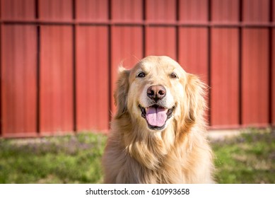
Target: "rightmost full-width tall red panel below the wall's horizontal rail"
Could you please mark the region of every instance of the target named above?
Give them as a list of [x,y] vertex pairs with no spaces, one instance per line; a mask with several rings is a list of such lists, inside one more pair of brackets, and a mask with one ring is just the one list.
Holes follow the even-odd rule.
[[242,124],[269,122],[269,37],[267,29],[242,31]]

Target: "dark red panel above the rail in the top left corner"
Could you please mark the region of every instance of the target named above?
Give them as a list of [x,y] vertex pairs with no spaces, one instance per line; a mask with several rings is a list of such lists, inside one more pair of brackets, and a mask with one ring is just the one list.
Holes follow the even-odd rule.
[[35,0],[1,0],[1,18],[18,21],[35,19]]

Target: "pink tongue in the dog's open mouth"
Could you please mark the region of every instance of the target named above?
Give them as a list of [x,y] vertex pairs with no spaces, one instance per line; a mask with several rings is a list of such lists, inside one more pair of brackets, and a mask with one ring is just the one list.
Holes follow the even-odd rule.
[[148,107],[146,120],[151,126],[162,127],[167,120],[166,110],[162,107]]

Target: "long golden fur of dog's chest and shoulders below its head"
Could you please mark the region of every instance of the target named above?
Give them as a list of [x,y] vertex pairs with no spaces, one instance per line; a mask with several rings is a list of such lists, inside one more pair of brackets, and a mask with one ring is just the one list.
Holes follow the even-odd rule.
[[[170,131],[170,129],[168,129]],[[209,167],[207,163],[211,156],[209,148],[200,148],[199,139],[196,133],[187,137],[181,137],[183,141],[175,142],[175,135],[154,134],[151,136],[133,136],[136,132],[115,133],[108,151],[112,152],[107,159],[107,163],[112,170],[108,174],[105,182],[110,183],[201,183],[210,178],[210,173],[201,174],[203,166]],[[197,139],[197,140],[196,140]],[[187,141],[190,140],[190,141]],[[117,144],[123,142],[122,144]],[[195,142],[190,144],[190,142]],[[117,149],[119,148],[119,149]],[[204,151],[206,156],[196,153]],[[106,161],[105,161],[106,163]],[[201,168],[202,167],[202,168]],[[204,171],[204,170],[203,170]],[[202,177],[201,177],[202,175]],[[205,177],[204,177],[205,175]],[[108,180],[110,178],[110,180]]]

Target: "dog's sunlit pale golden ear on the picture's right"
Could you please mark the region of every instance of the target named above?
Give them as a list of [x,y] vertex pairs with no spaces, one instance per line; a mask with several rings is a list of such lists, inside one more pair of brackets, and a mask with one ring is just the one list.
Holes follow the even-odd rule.
[[206,85],[193,74],[187,74],[187,84],[185,92],[187,95],[187,120],[196,122],[203,119],[206,103],[204,100]]

